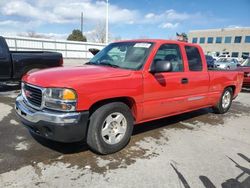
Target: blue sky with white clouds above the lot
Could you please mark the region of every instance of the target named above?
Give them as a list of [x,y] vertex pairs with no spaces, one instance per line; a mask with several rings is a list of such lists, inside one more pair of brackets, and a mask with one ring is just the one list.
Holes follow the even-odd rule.
[[[176,32],[250,27],[250,0],[109,0],[112,38],[172,39]],[[80,29],[91,39],[105,23],[106,0],[0,0],[0,35],[35,32],[66,39]]]

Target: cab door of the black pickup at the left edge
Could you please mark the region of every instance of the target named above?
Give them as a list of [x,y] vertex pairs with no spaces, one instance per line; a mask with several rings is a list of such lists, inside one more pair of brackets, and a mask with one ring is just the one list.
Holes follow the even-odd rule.
[[9,48],[4,38],[0,37],[0,80],[11,78],[11,70],[12,63]]

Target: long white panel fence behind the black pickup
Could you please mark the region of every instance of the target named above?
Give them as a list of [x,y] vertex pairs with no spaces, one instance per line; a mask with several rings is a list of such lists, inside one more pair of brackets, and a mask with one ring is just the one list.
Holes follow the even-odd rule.
[[54,51],[62,53],[64,58],[89,59],[92,54],[90,48],[102,49],[105,44],[75,42],[66,40],[37,39],[28,37],[4,37],[10,50],[16,51]]

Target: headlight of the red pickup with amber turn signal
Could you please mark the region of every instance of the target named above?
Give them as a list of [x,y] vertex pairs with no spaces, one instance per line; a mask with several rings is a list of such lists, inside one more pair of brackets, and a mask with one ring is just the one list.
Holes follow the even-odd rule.
[[72,89],[47,88],[44,92],[44,106],[52,110],[75,111],[77,95]]

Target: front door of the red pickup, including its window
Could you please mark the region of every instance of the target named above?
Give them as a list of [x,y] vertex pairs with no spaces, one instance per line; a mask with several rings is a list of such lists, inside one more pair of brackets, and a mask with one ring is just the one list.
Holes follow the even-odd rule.
[[144,72],[143,120],[164,117],[186,109],[184,62],[180,46],[163,44],[159,47],[152,63],[170,61],[171,72]]

